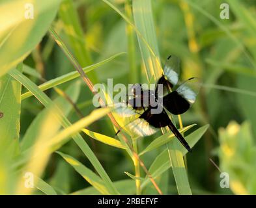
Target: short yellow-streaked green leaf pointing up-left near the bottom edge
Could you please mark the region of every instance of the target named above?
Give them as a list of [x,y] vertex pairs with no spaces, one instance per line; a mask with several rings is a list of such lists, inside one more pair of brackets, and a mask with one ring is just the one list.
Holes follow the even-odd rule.
[[98,190],[98,192],[100,192],[101,194],[109,194],[107,188],[104,185],[104,182],[98,175],[96,175],[89,168],[81,164],[81,162],[74,159],[74,157],[61,153],[59,151],[57,151],[57,153],[61,155],[61,157],[63,157],[63,159],[68,162],[68,164],[70,164],[76,170],[76,172],[78,172],[78,174],[80,174],[88,183],[90,183],[92,187]]

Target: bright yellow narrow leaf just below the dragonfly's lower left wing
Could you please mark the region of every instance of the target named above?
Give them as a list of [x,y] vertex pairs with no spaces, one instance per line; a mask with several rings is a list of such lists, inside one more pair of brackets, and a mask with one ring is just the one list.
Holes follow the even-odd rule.
[[112,138],[110,136],[102,135],[100,133],[96,133],[93,131],[89,131],[88,129],[83,129],[82,130],[85,134],[88,136],[91,136],[91,138],[94,138],[95,140],[98,140],[99,142],[102,142],[104,144],[116,147],[116,148],[121,148],[121,149],[126,149],[126,146],[122,145],[121,142],[115,138]]

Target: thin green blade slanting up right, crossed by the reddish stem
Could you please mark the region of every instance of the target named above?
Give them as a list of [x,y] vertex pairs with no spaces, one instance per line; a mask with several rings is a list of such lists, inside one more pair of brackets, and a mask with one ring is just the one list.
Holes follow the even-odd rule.
[[[98,68],[100,66],[102,66],[103,64],[106,64],[107,62],[115,59],[116,57],[119,57],[120,55],[124,54],[124,52],[122,53],[117,53],[111,57],[109,57],[108,59],[106,60],[102,60],[101,62],[98,62],[96,64],[92,64],[91,66],[87,66],[85,68],[83,68],[83,71],[85,73],[87,72],[91,72],[92,70],[94,70],[95,68]],[[77,77],[79,77],[79,73],[77,71],[75,72],[70,72],[70,73],[67,73],[65,75],[62,75],[61,77],[57,77],[55,79],[51,79],[50,81],[47,81],[46,83],[38,86],[38,88],[40,88],[40,90],[44,91],[44,90],[48,90],[50,88],[53,88],[54,86],[58,86],[58,85],[61,85],[63,83],[66,83],[67,81],[70,81],[72,79],[75,79]],[[21,95],[21,99],[25,99],[25,98],[29,98],[33,96],[32,92],[25,92],[24,94]]]

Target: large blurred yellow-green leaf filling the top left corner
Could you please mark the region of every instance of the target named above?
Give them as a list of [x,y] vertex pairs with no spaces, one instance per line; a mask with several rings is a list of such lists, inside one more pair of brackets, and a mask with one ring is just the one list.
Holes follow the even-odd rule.
[[0,2],[0,76],[20,63],[35,48],[61,0],[3,0]]

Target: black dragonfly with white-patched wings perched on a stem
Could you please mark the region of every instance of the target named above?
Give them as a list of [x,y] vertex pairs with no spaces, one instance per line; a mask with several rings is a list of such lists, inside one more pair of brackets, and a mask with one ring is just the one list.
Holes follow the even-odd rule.
[[[188,142],[169,118],[167,111],[173,115],[179,115],[190,109],[199,93],[200,81],[197,77],[191,77],[178,85],[179,74],[180,60],[178,57],[170,55],[164,64],[164,72],[158,79],[154,90],[144,89],[141,84],[135,84],[131,88],[132,98],[128,98],[126,105],[119,103],[116,107],[121,116],[139,115],[135,120],[128,123],[130,130],[137,135],[150,136],[162,127],[169,127],[182,146],[188,151],[192,151]],[[158,90],[160,86],[162,87],[161,94]],[[138,103],[140,105],[137,105]],[[161,112],[152,113],[152,110],[159,105],[162,107]],[[121,129],[117,133],[120,131]]]

